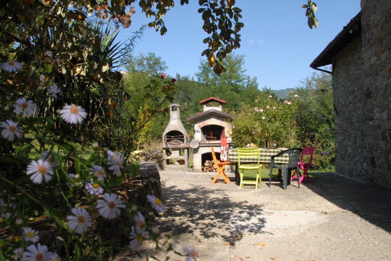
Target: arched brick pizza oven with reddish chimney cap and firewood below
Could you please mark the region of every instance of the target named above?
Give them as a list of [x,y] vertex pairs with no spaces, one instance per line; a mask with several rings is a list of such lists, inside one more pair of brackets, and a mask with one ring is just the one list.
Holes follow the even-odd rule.
[[[206,104],[217,102],[219,106],[208,107]],[[204,111],[194,116],[188,117],[187,121],[194,123],[194,139],[199,141],[198,148],[193,150],[193,171],[202,171],[205,160],[212,160],[210,147],[213,146],[217,159],[220,158],[220,139],[224,130],[227,143],[231,143],[231,125],[229,121],[233,115],[224,113],[221,110],[226,101],[210,97],[199,102],[204,106]]]

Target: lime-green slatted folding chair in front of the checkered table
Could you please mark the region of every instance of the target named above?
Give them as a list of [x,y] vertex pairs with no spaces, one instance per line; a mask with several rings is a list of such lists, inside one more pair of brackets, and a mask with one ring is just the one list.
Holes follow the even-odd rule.
[[[246,162],[246,163],[245,163]],[[248,163],[254,162],[254,163]],[[244,184],[253,185],[255,184],[255,189],[258,187],[258,182],[260,187],[262,187],[261,182],[261,172],[260,167],[262,165],[259,164],[259,149],[258,148],[238,148],[238,168],[239,168],[239,177],[240,184],[239,189],[241,189]],[[244,170],[256,169],[256,178],[255,180],[245,180],[244,178]]]

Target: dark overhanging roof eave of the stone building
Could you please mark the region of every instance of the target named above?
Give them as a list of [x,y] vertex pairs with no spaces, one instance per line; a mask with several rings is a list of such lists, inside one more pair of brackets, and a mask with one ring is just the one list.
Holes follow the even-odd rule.
[[[352,32],[350,32],[352,30]],[[326,48],[310,64],[311,68],[318,68],[332,63],[335,57],[346,45],[361,34],[361,11],[344,26],[333,41],[329,42]]]

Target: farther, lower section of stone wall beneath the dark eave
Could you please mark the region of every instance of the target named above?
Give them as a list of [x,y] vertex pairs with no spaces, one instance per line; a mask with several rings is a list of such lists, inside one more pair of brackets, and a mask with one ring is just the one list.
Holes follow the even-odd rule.
[[336,56],[333,72],[335,171],[366,180],[361,37],[354,39]]

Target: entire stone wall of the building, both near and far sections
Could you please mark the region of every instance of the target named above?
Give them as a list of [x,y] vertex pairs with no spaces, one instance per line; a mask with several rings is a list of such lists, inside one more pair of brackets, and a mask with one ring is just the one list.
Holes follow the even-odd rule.
[[391,3],[361,9],[361,36],[333,62],[335,170],[391,188]]

